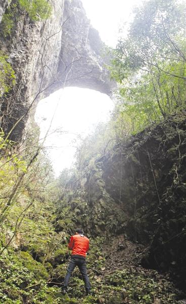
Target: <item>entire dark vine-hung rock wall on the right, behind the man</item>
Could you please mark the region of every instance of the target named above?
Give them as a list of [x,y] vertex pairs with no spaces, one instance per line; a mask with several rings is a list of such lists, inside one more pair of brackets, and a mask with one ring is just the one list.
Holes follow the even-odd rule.
[[170,272],[182,290],[186,277],[185,138],[183,112],[121,141],[94,166],[91,163],[77,194],[81,205],[86,202],[81,212],[86,222],[78,222],[85,231],[110,237],[122,234],[143,244],[142,265]]

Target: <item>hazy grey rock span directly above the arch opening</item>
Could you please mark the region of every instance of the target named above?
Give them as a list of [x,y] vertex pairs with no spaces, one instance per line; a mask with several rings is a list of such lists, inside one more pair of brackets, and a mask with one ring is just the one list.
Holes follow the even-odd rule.
[[[74,7],[75,6],[75,7]],[[58,79],[65,86],[78,86],[111,94],[113,83],[102,58],[106,52],[99,33],[85,15],[80,1],[65,3],[62,47],[60,52]],[[60,84],[58,84],[60,86]]]

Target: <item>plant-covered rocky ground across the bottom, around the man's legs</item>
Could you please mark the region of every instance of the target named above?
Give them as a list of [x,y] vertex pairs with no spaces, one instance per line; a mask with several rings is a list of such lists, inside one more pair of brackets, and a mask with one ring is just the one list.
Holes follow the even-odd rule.
[[41,243],[38,247],[34,243],[35,251],[33,244],[31,251],[28,245],[23,251],[5,251],[0,257],[0,303],[186,304],[185,294],[175,287],[168,273],[143,268],[141,260],[147,248],[123,235],[90,238],[87,270],[91,295],[85,295],[77,268],[68,293],[63,295],[61,285],[70,257],[67,239],[63,241],[61,249],[49,256],[42,251]]

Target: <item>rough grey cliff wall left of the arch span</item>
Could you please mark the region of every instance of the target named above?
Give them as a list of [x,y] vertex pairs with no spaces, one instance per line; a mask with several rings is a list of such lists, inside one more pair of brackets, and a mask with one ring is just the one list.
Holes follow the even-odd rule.
[[[17,4],[13,0],[10,9]],[[10,138],[20,141],[28,119],[26,115],[36,94],[49,86],[52,74],[57,73],[61,50],[61,28],[64,2],[55,2],[53,16],[45,22],[33,23],[19,6],[14,18],[14,27],[9,36],[1,30],[1,50],[9,56],[16,73],[16,86],[1,100],[1,127],[8,133],[17,120],[25,115],[12,132]],[[51,39],[49,38],[50,36]],[[38,95],[41,98],[43,95]],[[35,103],[34,103],[35,105]]]

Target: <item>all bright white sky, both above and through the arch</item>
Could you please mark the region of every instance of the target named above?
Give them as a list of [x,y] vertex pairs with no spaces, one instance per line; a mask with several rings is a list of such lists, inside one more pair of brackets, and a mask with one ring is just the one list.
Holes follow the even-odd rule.
[[[132,7],[142,0],[82,0],[90,23],[100,32],[102,40],[115,47],[121,22],[132,19]],[[44,142],[56,176],[70,168],[76,151],[78,136],[94,131],[99,122],[105,122],[113,109],[112,100],[97,91],[80,88],[61,89],[37,106],[35,120],[40,127],[40,138],[50,128]],[[55,131],[58,130],[58,131]]]

